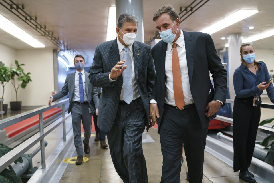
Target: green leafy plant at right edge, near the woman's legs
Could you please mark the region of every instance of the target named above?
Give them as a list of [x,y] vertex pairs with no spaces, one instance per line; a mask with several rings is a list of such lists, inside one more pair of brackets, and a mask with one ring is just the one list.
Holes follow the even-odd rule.
[[[274,118],[263,120],[259,125],[264,125],[267,123],[271,123],[274,120]],[[274,125],[271,127],[273,128]],[[265,156],[264,162],[270,163],[274,161],[274,135],[267,136],[263,142],[261,142],[262,146],[265,146],[264,149],[268,149],[267,155]],[[271,142],[269,144],[269,142]]]

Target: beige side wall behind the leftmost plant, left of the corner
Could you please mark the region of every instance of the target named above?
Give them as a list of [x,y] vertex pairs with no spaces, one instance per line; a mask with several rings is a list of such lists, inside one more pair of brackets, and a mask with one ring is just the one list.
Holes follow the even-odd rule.
[[[14,63],[15,55],[16,55],[15,49],[12,49],[11,47],[8,47],[0,43],[0,61],[2,61],[5,64],[5,66],[10,67],[11,64]],[[7,85],[5,86],[4,104],[9,104],[9,102],[12,101],[12,95],[11,95],[12,90],[13,90],[13,86],[11,85],[11,83],[7,83]],[[2,97],[2,94],[3,94],[3,87],[0,86],[0,98]],[[10,108],[9,105],[8,105],[8,108]]]

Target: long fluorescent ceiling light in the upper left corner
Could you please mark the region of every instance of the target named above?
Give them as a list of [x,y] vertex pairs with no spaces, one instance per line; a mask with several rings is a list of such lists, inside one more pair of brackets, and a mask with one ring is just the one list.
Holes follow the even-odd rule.
[[9,21],[7,18],[5,18],[3,15],[0,14],[0,28],[6,31],[7,33],[13,35],[14,37],[17,37],[21,41],[24,41],[25,43],[31,45],[35,48],[44,48],[45,45],[43,45],[41,42],[39,42],[37,39],[23,31],[21,28],[19,28],[17,25]]

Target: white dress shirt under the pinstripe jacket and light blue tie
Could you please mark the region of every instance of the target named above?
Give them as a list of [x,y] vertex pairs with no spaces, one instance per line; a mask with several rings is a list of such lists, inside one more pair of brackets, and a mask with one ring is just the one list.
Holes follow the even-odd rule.
[[[118,44],[118,50],[119,50],[120,60],[122,61],[122,60],[124,60],[125,51],[123,49],[124,49],[125,46],[122,43],[120,43],[120,41],[118,40],[118,37],[117,37],[117,44]],[[129,53],[130,58],[131,58],[133,100],[135,100],[138,97],[140,97],[140,94],[139,94],[137,83],[136,83],[136,79],[135,79],[134,58],[133,58],[133,48],[132,48],[132,45],[128,46],[128,48],[129,48],[128,53]],[[128,68],[126,68],[126,69],[128,69]],[[110,78],[110,74],[109,74],[109,82],[110,83],[116,81],[116,79],[117,78],[115,78],[114,80],[111,79]],[[121,90],[120,100],[124,100],[123,86],[122,86],[122,90]]]

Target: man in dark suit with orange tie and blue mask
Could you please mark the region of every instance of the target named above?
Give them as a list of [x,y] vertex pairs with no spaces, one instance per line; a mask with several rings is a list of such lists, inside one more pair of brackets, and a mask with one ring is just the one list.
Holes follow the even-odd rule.
[[210,35],[182,31],[173,7],[160,8],[153,20],[162,38],[152,48],[157,80],[150,100],[163,154],[161,182],[179,182],[184,142],[189,181],[200,183],[208,123],[225,104],[227,72]]

